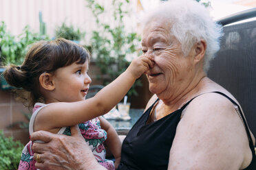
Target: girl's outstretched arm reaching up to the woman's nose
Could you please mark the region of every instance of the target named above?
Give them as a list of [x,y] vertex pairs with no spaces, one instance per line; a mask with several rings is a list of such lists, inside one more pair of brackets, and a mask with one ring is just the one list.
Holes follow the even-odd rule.
[[50,104],[39,111],[34,131],[49,131],[57,127],[76,125],[109,112],[126,95],[136,79],[149,70],[149,67],[153,67],[151,59],[140,56],[131,62],[124,73],[94,97],[83,101]]

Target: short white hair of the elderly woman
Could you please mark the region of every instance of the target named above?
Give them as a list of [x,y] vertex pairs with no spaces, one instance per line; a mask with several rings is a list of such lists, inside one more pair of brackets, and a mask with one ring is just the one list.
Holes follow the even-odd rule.
[[206,41],[204,71],[209,70],[210,61],[220,49],[222,27],[213,21],[204,5],[194,0],[170,0],[161,3],[156,10],[151,10],[143,21],[144,25],[152,19],[164,18],[171,23],[171,34],[182,44],[182,51],[187,55],[193,45]]

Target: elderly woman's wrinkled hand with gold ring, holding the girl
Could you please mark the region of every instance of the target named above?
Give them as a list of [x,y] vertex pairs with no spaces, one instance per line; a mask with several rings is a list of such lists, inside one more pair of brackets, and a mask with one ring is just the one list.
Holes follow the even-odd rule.
[[38,169],[105,169],[99,165],[77,126],[71,127],[72,136],[38,131],[31,135],[33,151],[40,154]]

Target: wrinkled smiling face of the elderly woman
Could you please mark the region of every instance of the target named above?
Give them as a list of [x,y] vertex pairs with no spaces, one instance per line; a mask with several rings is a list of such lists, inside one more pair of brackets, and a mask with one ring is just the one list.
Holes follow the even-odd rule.
[[170,34],[171,24],[164,19],[147,23],[142,34],[142,51],[151,55],[154,67],[147,72],[149,90],[158,97],[170,97],[184,90],[191,79],[193,60],[184,56],[180,42]]

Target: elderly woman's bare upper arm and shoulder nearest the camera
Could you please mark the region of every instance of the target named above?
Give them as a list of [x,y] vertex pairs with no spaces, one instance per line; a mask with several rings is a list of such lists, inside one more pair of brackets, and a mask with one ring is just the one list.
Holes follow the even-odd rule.
[[168,169],[241,169],[246,140],[233,104],[214,93],[202,95],[178,124]]

